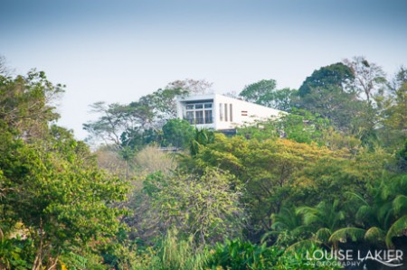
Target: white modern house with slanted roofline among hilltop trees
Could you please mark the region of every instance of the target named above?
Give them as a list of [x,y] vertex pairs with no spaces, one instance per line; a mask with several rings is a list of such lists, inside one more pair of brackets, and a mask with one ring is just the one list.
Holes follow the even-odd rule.
[[176,98],[177,117],[197,128],[234,130],[286,112],[219,94]]

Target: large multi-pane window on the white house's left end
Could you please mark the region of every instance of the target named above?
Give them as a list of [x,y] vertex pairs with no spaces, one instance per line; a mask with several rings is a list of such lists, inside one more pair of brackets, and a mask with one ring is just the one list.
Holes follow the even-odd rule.
[[213,123],[212,100],[206,102],[188,103],[185,105],[185,120],[191,125]]

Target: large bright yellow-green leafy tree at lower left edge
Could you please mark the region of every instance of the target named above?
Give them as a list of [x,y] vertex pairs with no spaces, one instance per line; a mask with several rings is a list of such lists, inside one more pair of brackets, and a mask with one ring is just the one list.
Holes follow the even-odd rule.
[[2,221],[22,222],[27,228],[35,248],[33,269],[56,264],[74,247],[113,236],[120,211],[108,204],[123,200],[126,191],[118,179],[109,179],[84,162],[82,156],[90,155],[82,152],[86,146],[61,128],[52,129],[63,141],[49,142],[47,147],[18,140],[1,145],[2,186],[7,190]]

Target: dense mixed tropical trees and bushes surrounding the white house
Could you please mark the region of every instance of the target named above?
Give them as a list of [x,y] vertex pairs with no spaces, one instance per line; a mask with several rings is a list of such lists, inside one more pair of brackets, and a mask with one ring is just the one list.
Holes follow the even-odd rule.
[[0,268],[339,269],[306,255],[405,250],[406,70],[354,58],[298,90],[253,83],[241,98],[290,114],[233,136],[175,119],[176,95],[210,86],[94,104],[92,153],[55,125],[62,85],[1,74]]

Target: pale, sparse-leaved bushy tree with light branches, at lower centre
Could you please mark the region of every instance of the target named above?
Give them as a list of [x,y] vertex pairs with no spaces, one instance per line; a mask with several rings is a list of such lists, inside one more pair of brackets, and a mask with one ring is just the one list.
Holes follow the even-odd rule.
[[231,189],[231,178],[210,168],[202,176],[158,172],[147,177],[144,189],[160,213],[162,231],[176,228],[202,245],[241,234],[241,192]]

